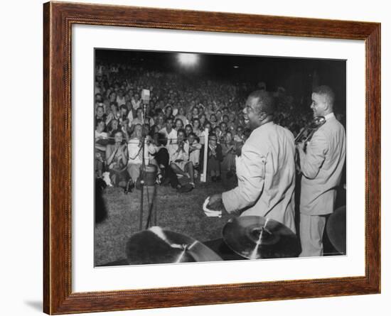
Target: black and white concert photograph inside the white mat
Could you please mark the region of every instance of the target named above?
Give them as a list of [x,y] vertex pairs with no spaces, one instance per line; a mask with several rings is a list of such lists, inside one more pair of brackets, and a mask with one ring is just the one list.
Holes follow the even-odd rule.
[[94,58],[95,267],[348,254],[346,60]]

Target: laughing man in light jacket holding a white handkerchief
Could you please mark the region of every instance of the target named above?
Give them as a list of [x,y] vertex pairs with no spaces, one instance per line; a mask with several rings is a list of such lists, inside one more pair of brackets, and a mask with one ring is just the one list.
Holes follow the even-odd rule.
[[252,134],[236,158],[237,187],[211,196],[206,207],[214,212],[267,217],[296,232],[294,136],[274,124],[273,98],[264,90],[250,94],[244,113]]

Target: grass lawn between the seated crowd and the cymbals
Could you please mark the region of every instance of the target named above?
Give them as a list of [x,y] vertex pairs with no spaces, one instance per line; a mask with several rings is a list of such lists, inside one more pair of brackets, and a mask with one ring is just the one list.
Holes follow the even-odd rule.
[[[208,241],[222,236],[222,229],[229,215],[222,218],[206,217],[202,205],[208,195],[235,187],[235,180],[198,182],[188,193],[178,193],[170,186],[156,185],[154,211],[160,227],[186,234],[198,241]],[[145,229],[148,213],[147,189],[144,190]],[[153,196],[149,188],[149,201]],[[103,199],[107,207],[107,219],[95,225],[95,266],[125,258],[125,246],[129,237],[139,231],[140,191],[125,195],[123,190],[107,187]]]

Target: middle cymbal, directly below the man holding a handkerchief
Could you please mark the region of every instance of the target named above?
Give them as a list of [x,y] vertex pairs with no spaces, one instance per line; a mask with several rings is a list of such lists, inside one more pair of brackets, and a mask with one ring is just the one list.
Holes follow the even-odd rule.
[[299,256],[299,240],[284,224],[260,216],[230,219],[223,228],[227,246],[242,257],[291,258]]

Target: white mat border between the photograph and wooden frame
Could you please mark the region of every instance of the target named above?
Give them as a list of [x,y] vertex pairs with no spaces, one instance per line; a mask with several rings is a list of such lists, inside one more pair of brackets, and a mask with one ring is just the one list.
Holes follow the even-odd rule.
[[[86,25],[72,34],[73,292],[365,275],[363,40]],[[347,256],[94,268],[94,48],[346,59]]]

